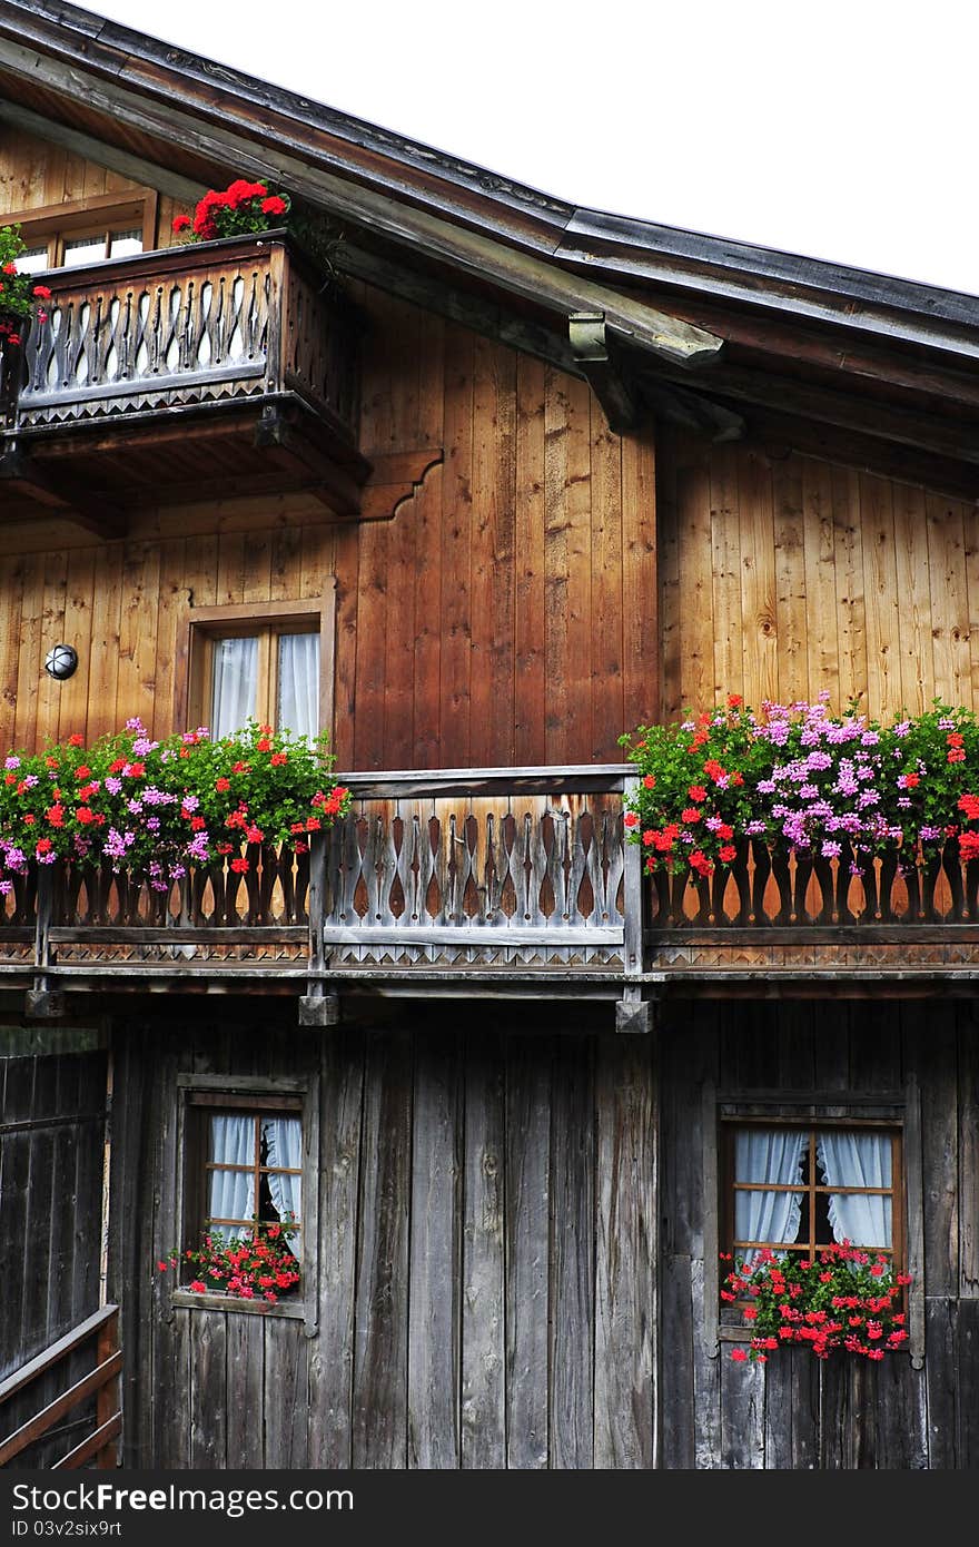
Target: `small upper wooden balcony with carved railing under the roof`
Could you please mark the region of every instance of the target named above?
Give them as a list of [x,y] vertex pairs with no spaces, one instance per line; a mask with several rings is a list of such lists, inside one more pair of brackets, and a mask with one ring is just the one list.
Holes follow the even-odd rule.
[[351,309],[281,232],[45,275],[0,399],[3,512],[110,535],[135,503],[309,487],[356,514]]

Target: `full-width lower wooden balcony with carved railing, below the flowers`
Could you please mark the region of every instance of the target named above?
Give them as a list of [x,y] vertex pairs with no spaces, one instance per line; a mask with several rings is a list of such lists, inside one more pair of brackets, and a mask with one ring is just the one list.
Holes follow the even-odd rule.
[[32,1015],[67,995],[263,993],[331,1024],[362,995],[605,999],[645,1030],[663,996],[971,995],[979,862],[950,840],[905,871],[742,845],[708,879],[643,876],[634,770],[348,774],[350,815],[309,854],[254,846],[247,874],[165,893],[42,866],[0,916],[0,987]]

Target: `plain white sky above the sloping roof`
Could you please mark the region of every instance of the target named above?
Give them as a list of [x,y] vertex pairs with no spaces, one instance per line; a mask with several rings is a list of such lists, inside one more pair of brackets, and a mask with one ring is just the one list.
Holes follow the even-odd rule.
[[979,295],[974,0],[99,0],[571,203]]

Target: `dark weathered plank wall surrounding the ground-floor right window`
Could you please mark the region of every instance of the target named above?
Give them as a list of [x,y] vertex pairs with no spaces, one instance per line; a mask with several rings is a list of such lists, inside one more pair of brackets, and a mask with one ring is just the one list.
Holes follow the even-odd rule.
[[[682,1006],[660,1040],[662,1465],[979,1465],[979,1024],[971,1006]],[[922,1103],[925,1366],[781,1349],[736,1364],[704,1338],[702,1091],[892,1092]],[[906,1157],[911,1165],[911,1156]]]

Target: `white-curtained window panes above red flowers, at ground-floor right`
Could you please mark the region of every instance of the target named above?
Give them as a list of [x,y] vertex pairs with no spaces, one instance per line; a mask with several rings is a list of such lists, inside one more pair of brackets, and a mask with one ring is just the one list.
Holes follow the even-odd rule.
[[727,1122],[725,1248],[815,1256],[851,1245],[903,1258],[902,1134],[888,1123]]

